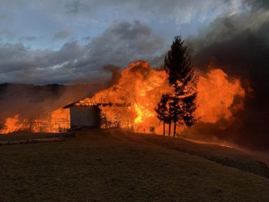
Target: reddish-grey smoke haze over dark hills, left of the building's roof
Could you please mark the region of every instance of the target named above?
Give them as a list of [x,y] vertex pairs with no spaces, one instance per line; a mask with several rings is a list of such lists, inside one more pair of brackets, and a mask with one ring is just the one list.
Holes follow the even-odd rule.
[[[109,81],[110,82],[110,81]],[[108,82],[108,83],[109,83]],[[106,88],[108,83],[74,85],[0,84],[0,121],[19,114],[19,119],[41,118],[69,103],[93,96]]]

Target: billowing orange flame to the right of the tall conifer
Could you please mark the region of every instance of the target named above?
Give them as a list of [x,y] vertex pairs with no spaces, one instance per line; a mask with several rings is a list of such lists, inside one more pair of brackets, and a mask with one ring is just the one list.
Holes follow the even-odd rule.
[[[229,120],[232,118],[231,104],[234,97],[241,99],[245,96],[239,79],[228,79],[228,75],[221,69],[211,69],[205,76],[201,76],[198,82],[197,102],[199,107],[196,111],[200,121],[215,123],[220,118]],[[244,107],[243,101],[234,110]]]

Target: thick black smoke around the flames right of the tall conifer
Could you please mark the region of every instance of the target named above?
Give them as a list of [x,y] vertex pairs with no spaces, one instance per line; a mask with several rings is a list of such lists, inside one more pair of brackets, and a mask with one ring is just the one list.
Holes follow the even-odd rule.
[[240,78],[248,94],[245,109],[225,130],[217,124],[196,124],[192,134],[216,136],[256,149],[269,149],[269,1],[246,0],[250,11],[214,20],[197,37],[189,37],[195,67],[212,64]]

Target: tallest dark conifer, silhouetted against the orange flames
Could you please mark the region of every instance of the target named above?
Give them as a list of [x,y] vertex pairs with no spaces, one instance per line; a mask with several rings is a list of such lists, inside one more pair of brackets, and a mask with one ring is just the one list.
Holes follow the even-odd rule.
[[197,119],[194,112],[197,108],[197,82],[191,61],[191,54],[181,36],[175,36],[171,50],[164,60],[164,70],[169,76],[169,83],[174,89],[172,98],[172,120],[174,124],[173,136],[176,134],[176,125],[191,126]]

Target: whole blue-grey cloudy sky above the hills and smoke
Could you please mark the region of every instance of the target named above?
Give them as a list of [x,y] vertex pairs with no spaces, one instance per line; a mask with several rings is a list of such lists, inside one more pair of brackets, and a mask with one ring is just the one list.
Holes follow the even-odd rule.
[[[103,68],[107,64],[122,68],[147,60],[158,66],[174,35],[193,39],[198,46],[214,40],[209,33],[216,32],[223,18],[237,19],[242,29],[255,28],[268,20],[268,9],[261,11],[266,4],[266,0],[0,0],[0,82],[91,82],[109,77]],[[224,29],[229,24],[223,24],[220,28],[227,38]]]

